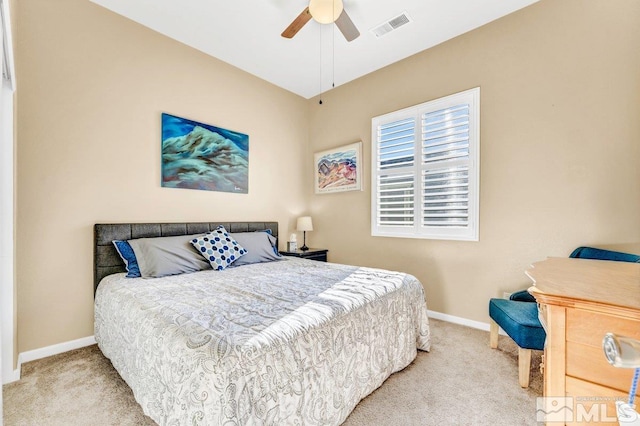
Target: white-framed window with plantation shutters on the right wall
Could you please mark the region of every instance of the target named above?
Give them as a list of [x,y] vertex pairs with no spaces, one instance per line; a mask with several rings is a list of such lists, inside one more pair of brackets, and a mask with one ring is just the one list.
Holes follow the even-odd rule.
[[480,88],[371,128],[371,235],[478,241]]

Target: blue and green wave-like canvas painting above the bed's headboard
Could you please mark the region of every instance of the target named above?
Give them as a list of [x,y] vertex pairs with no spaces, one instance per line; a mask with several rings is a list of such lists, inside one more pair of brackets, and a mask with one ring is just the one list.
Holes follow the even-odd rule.
[[162,186],[249,193],[249,136],[163,113]]

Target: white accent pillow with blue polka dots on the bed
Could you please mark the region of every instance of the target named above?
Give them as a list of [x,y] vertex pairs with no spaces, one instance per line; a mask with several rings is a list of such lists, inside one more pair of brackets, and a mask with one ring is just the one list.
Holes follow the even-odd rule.
[[191,244],[217,271],[223,270],[247,254],[244,247],[231,238],[222,225],[206,235],[192,239]]

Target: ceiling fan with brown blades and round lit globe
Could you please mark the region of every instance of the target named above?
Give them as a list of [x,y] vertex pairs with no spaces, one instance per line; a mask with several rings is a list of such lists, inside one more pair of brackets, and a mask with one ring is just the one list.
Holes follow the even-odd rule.
[[360,31],[344,10],[342,0],[310,0],[309,6],[284,30],[282,37],[293,38],[311,18],[321,24],[335,22],[347,41],[355,40],[360,35]]

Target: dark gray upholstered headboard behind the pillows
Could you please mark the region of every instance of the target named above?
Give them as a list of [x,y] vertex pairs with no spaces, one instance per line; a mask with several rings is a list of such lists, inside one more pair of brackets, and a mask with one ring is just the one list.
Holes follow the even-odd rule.
[[218,225],[223,225],[229,232],[271,229],[273,236],[278,238],[278,222],[96,223],[93,232],[93,291],[102,278],[126,271],[113,240],[200,234],[213,231]]

